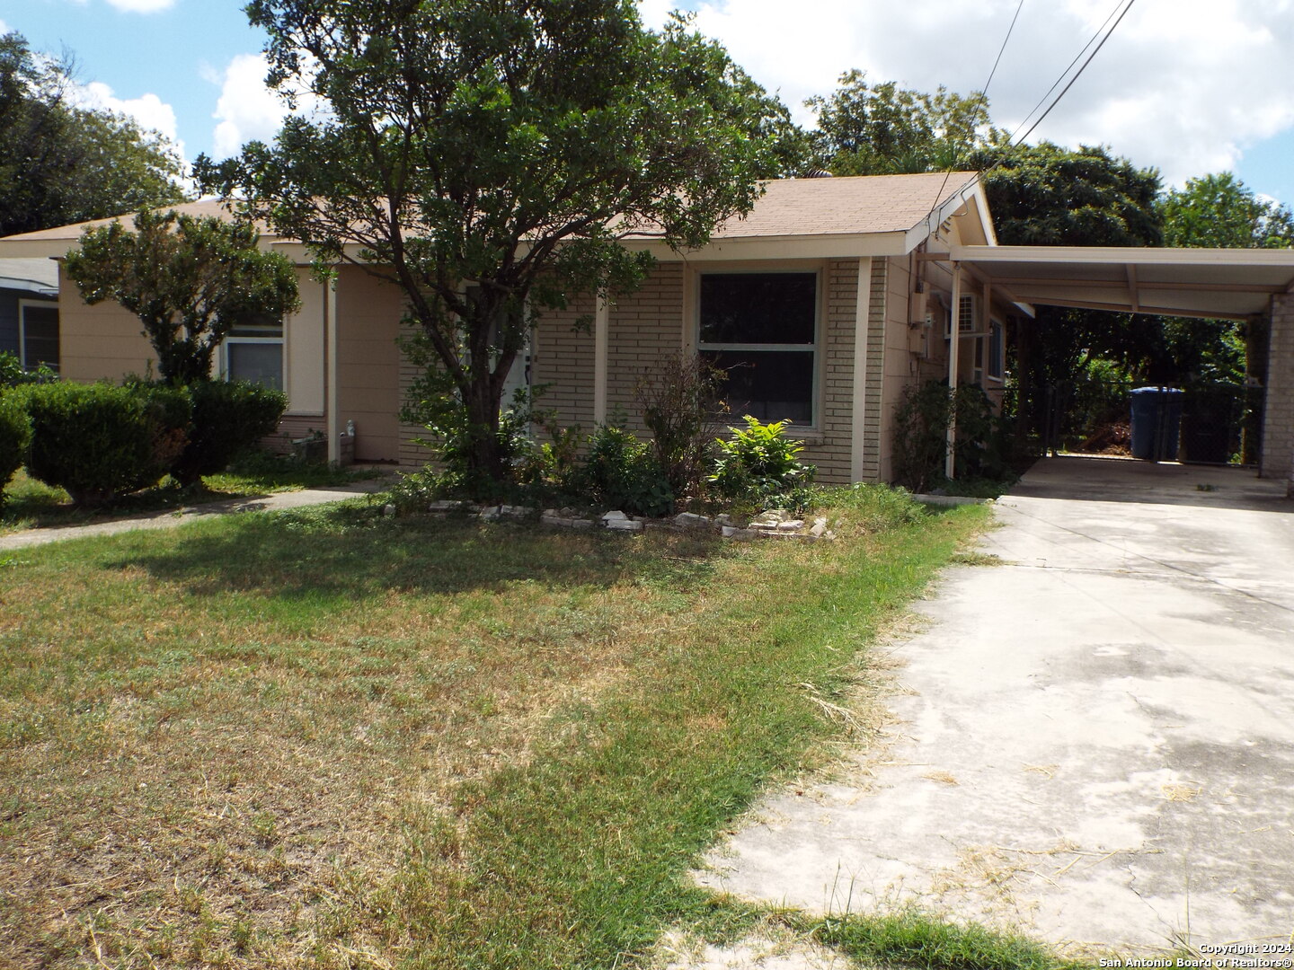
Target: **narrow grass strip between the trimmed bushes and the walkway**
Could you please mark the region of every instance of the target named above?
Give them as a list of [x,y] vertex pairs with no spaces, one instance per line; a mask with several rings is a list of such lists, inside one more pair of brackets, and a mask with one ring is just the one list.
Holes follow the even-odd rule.
[[19,529],[39,529],[49,525],[80,525],[123,516],[158,512],[181,506],[198,506],[230,498],[252,498],[274,491],[327,488],[344,485],[360,479],[371,479],[377,472],[330,468],[321,464],[302,464],[277,455],[255,455],[221,475],[208,475],[201,485],[181,488],[166,477],[160,484],[133,495],[123,495],[106,508],[76,508],[71,498],[60,488],[52,488],[19,471],[4,490],[5,502],[0,507],[0,534]]

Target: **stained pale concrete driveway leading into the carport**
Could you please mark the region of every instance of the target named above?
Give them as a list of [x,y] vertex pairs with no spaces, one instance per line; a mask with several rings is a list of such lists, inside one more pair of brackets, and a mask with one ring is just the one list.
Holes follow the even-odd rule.
[[1053,458],[996,517],[981,550],[1003,564],[950,569],[892,644],[886,740],[844,780],[767,799],[701,881],[813,912],[915,903],[1115,954],[1289,943],[1284,484]]

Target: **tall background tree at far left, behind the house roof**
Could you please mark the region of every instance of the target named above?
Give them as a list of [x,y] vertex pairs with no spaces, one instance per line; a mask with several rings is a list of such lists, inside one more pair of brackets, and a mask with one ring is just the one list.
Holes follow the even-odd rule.
[[181,163],[157,132],[78,107],[70,70],[0,38],[0,235],[184,200]]

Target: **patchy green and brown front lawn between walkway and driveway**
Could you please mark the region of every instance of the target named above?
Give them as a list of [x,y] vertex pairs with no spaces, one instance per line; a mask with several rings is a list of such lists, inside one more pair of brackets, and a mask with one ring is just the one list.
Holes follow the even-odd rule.
[[[842,729],[819,701],[987,516],[829,503],[835,543],[356,502],[23,551],[0,569],[0,952],[612,967],[668,927],[739,936],[758,911],[687,870],[819,762]],[[871,956],[851,926],[813,931]]]

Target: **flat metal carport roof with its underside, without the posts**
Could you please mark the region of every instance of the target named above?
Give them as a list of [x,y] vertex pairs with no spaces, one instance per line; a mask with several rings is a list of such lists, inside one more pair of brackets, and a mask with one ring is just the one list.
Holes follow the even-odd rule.
[[1294,292],[1294,250],[954,246],[949,257],[1021,305],[1242,319]]

